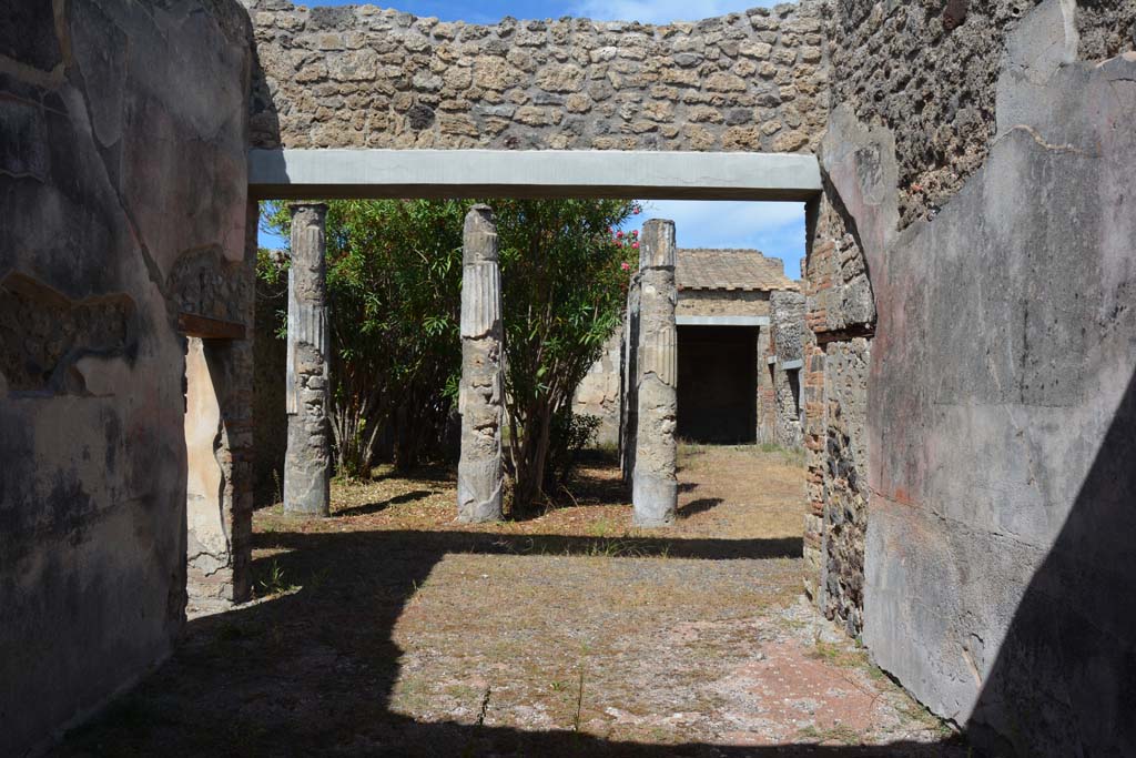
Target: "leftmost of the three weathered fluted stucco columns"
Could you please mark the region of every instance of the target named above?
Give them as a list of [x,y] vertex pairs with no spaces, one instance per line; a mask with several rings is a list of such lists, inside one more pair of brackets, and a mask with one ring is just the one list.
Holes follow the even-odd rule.
[[284,511],[327,516],[331,505],[331,430],[327,206],[293,203],[292,265],[287,275],[287,453]]

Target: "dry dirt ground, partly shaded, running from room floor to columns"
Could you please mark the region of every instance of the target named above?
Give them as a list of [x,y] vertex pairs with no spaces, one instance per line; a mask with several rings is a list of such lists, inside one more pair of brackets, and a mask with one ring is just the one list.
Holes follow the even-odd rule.
[[520,522],[453,524],[444,469],[259,511],[258,600],[191,608],[57,755],[966,755],[802,599],[799,457],[684,447],[679,482],[650,533],[603,456]]

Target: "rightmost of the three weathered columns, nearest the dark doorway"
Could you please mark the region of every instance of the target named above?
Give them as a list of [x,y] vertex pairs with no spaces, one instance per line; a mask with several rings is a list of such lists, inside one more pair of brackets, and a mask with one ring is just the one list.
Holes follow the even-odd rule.
[[675,326],[675,223],[652,218],[640,242],[637,418],[632,503],[636,526],[675,522],[678,332]]

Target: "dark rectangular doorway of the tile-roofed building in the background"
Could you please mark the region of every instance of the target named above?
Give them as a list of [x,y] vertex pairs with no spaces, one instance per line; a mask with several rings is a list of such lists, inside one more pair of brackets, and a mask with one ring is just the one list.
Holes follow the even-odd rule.
[[678,327],[678,436],[738,444],[757,439],[758,330]]

